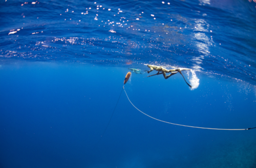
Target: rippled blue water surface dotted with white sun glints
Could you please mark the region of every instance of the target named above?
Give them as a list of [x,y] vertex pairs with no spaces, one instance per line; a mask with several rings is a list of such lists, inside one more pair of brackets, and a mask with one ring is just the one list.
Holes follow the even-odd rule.
[[1,1],[0,60],[188,67],[256,84],[253,1]]

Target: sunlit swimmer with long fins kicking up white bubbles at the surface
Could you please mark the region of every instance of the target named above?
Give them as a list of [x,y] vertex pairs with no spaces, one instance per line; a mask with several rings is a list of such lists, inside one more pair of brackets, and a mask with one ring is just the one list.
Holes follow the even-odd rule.
[[[150,74],[151,71],[153,70],[157,70],[158,73],[155,74],[155,75],[160,75],[160,74],[163,74],[163,77],[164,79],[168,79],[169,77],[177,74],[178,72],[182,75],[181,71],[182,70],[191,70],[191,69],[188,69],[188,68],[177,68],[177,69],[165,69],[164,67],[162,66],[157,66],[157,65],[147,65],[147,67],[150,68],[150,70],[147,71],[148,74]],[[160,73],[161,72],[161,73]],[[167,75],[166,76],[166,73],[171,73],[170,75]],[[155,76],[155,75],[150,75],[150,76],[147,76],[147,77],[152,77],[152,76]],[[183,79],[185,80],[184,76],[182,75]],[[187,81],[185,80],[185,82],[187,83]],[[187,83],[187,85],[189,87],[191,87],[191,85],[189,85]],[[192,87],[191,87],[192,88]]]

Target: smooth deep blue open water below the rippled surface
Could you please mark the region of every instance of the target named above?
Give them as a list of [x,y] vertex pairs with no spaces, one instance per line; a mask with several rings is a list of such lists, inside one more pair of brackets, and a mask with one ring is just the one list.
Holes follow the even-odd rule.
[[[100,139],[127,71],[80,64],[2,66],[1,167],[255,166],[255,130],[161,123],[137,111],[124,92]],[[132,74],[125,90],[153,117],[199,127],[255,126],[255,87],[248,83],[197,73],[200,85],[190,90],[181,75],[145,76]]]

